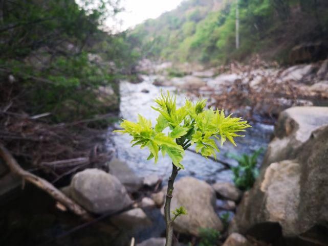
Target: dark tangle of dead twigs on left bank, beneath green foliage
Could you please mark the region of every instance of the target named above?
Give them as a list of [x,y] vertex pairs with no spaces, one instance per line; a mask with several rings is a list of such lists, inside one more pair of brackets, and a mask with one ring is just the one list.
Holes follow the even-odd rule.
[[[69,123],[54,124],[47,120],[51,113],[30,116],[25,112],[20,91],[2,83],[0,92],[0,143],[20,163],[32,164],[56,183],[80,169],[102,165],[111,159],[104,143],[105,131],[89,128],[88,123],[108,118],[102,115]],[[29,166],[29,165],[27,165]]]

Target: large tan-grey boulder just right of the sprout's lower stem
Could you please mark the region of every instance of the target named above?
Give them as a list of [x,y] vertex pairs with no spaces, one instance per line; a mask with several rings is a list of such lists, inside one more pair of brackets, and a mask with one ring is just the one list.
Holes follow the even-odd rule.
[[223,230],[222,222],[214,211],[215,200],[215,191],[209,184],[194,177],[182,177],[174,184],[171,211],[183,206],[188,214],[174,220],[174,230],[194,236],[199,236],[199,228]]

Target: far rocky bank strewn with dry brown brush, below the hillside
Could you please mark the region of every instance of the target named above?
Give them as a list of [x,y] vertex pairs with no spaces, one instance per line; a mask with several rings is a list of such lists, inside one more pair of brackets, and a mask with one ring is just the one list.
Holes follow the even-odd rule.
[[255,56],[246,65],[233,62],[210,68],[144,60],[139,69],[157,75],[156,86],[210,98],[210,105],[255,122],[274,123],[288,107],[328,102],[328,60],[286,67]]

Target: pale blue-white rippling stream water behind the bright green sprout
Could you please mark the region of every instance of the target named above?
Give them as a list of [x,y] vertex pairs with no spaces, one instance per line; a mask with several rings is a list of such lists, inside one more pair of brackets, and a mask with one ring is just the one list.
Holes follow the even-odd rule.
[[[181,106],[187,97],[185,93],[179,92],[176,87],[161,87],[152,84],[156,79],[156,75],[144,76],[143,82],[138,84],[122,81],[120,84],[121,117],[126,120],[136,121],[138,114],[150,119],[153,124],[156,123],[158,112],[151,109],[150,106],[155,106],[154,98],[158,97],[161,90],[170,91],[172,94],[177,94],[177,105]],[[146,93],[145,93],[146,92]],[[206,97],[205,97],[206,98]],[[194,98],[191,98],[194,99]],[[254,150],[261,147],[266,148],[270,141],[270,136],[273,132],[273,126],[255,123],[252,128],[248,128],[244,138],[237,138],[237,147],[226,142],[221,147],[221,152],[217,153],[217,159],[222,160],[232,165],[236,165],[234,160],[226,157],[227,153],[250,154]],[[157,164],[154,160],[146,161],[149,151],[147,148],[140,149],[139,146],[131,147],[131,137],[116,133],[114,142],[117,148],[117,155],[120,159],[125,160],[127,164],[138,175],[146,176],[148,174],[158,174],[162,177],[168,177],[171,171],[170,159],[161,156]],[[261,160],[259,160],[261,161]],[[229,181],[231,182],[232,173],[230,170],[221,171],[224,167],[220,162],[215,162],[210,159],[205,159],[202,155],[190,151],[186,151],[185,158],[182,162],[185,170],[179,172],[179,177],[191,175],[201,180],[206,181]]]

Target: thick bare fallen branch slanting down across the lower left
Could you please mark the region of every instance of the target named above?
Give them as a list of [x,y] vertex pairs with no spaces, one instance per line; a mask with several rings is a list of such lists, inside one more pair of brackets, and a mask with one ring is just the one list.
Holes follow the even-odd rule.
[[41,190],[46,191],[58,202],[60,202],[62,205],[64,205],[73,213],[82,217],[83,219],[92,219],[92,216],[86,210],[84,210],[80,205],[76,204],[71,198],[65,196],[61,191],[59,191],[48,181],[21,168],[16,162],[16,160],[13,158],[11,153],[2,144],[0,144],[0,156],[2,156],[2,158],[5,160],[10,170],[13,173],[21,176],[24,181],[28,181],[40,188]]

